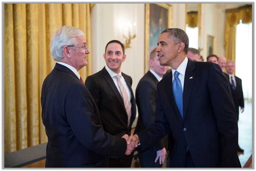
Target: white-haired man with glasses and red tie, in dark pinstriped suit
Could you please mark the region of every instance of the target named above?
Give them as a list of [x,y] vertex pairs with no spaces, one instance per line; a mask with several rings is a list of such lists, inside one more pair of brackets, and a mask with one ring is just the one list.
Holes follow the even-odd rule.
[[41,95],[48,137],[45,167],[108,167],[106,156],[127,153],[128,135],[104,131],[100,112],[78,73],[87,65],[88,53],[82,30],[63,26],[55,32],[51,54],[57,63]]

